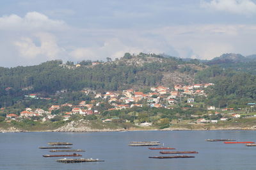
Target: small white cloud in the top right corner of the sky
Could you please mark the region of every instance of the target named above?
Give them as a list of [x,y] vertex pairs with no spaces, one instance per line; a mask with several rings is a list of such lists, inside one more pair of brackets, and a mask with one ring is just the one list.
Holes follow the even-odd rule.
[[202,1],[202,7],[242,15],[255,15],[256,4],[252,0],[211,0]]

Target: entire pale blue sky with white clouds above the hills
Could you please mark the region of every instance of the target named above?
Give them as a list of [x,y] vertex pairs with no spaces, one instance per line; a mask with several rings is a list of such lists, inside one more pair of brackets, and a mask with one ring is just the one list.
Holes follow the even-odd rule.
[[0,66],[256,54],[256,0],[1,0]]

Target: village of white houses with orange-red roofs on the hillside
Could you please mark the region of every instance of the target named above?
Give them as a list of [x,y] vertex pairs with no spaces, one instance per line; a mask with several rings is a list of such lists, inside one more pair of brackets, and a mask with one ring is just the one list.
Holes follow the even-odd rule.
[[[84,89],[80,91],[84,95],[93,95],[90,101],[80,101],[78,105],[73,104],[61,104],[51,105],[47,110],[41,108],[29,108],[17,113],[6,114],[6,122],[10,121],[68,121],[72,116],[100,116],[102,122],[109,122],[120,119],[120,116],[102,116],[102,113],[108,111],[122,111],[124,109],[131,109],[134,107],[154,107],[173,110],[177,107],[183,111],[187,111],[193,108],[203,108],[206,114],[191,114],[188,118],[178,118],[176,121],[170,120],[170,123],[177,123],[177,121],[184,121],[186,123],[218,123],[218,121],[228,121],[234,118],[241,118],[243,114],[239,114],[234,111],[234,108],[216,108],[211,105],[204,105],[204,103],[198,103],[196,97],[207,97],[205,88],[214,86],[212,83],[207,84],[193,84],[193,85],[175,85],[174,88],[166,88],[164,86],[152,87],[148,93],[141,91],[135,91],[134,89],[126,89],[124,91],[106,91],[105,93],[99,93],[92,89]],[[67,90],[63,89],[57,91],[56,95],[67,93]],[[41,98],[38,94],[29,94],[25,96],[33,100],[43,99],[51,100],[51,98]],[[108,104],[108,109],[98,109],[100,105]],[[252,108],[254,103],[248,104]],[[61,109],[61,108],[66,108]],[[8,108],[2,108],[4,109]],[[241,112],[242,113],[242,112]],[[250,115],[252,116],[252,115]],[[254,115],[253,115],[254,116]],[[58,117],[58,119],[56,119]],[[55,120],[54,120],[55,119]],[[163,121],[163,118],[159,118]],[[129,120],[122,120],[124,122],[130,122]],[[133,121],[136,125],[151,126],[152,121]]]

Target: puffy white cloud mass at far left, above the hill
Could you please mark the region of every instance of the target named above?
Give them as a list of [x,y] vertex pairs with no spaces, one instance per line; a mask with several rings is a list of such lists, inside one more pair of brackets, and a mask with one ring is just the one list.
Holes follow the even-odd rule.
[[28,12],[24,17],[15,14],[0,17],[0,44],[6,47],[4,50],[13,51],[12,56],[4,60],[31,65],[65,57],[65,50],[58,45],[55,35],[64,29],[67,29],[65,22],[49,19],[38,12]]

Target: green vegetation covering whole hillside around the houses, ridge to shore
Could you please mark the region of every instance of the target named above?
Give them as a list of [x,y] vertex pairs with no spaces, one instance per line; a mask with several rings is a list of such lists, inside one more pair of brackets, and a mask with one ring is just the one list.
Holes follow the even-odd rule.
[[[221,108],[230,109],[232,112],[239,112],[244,120],[239,119],[237,125],[250,122],[253,125],[255,120],[248,119],[255,112],[254,105],[247,105],[256,100],[256,64],[255,61],[241,62],[243,56],[237,55],[237,60],[230,60],[229,54],[221,59],[214,59],[212,62],[202,63],[197,59],[182,61],[182,59],[157,54],[132,55],[125,53],[123,58],[107,58],[108,62],[102,61],[81,61],[76,65],[72,61],[63,64],[62,61],[47,61],[36,66],[18,66],[15,68],[0,68],[0,127],[17,127],[23,130],[46,130],[54,129],[70,123],[70,121],[90,121],[93,128],[140,128],[141,123],[152,123],[150,128],[169,128],[186,125],[195,128],[188,123],[196,123],[198,119],[220,120],[226,116],[227,122],[218,122],[210,126],[233,126],[236,122],[232,115]],[[93,64],[94,63],[94,64]],[[185,79],[186,78],[186,79]],[[166,81],[166,79],[168,81]],[[175,91],[172,82],[180,79],[182,86],[195,84],[213,83],[208,88],[195,88],[191,93],[184,93],[187,89],[178,89],[179,96],[172,104],[170,93]],[[188,82],[190,79],[190,83]],[[135,89],[143,94],[152,92],[153,86],[168,84],[170,90],[167,93],[148,95],[139,101],[125,102],[127,97],[122,90]],[[83,90],[83,91],[82,91]],[[196,91],[203,91],[202,93]],[[95,98],[100,93],[102,97],[106,91],[118,91],[115,100],[109,102],[112,97]],[[29,94],[35,94],[29,96]],[[130,94],[131,95],[131,94]],[[132,97],[134,94],[132,92]],[[122,100],[120,100],[123,98]],[[195,102],[188,103],[188,98],[195,99]],[[157,102],[157,100],[159,100]],[[84,105],[80,105],[83,101]],[[152,104],[160,104],[156,107]],[[73,115],[67,121],[63,116],[72,112],[73,106],[81,110],[87,110],[92,105],[91,112],[86,116]],[[116,109],[116,105],[141,104],[143,107],[129,107]],[[60,105],[60,108],[53,109],[45,122],[41,121],[43,116],[33,116],[30,119],[19,121],[4,121],[6,114],[17,114],[27,107],[40,108],[48,111],[52,105]],[[85,106],[86,105],[86,106]],[[207,106],[215,106],[215,111],[208,111]],[[90,108],[91,109],[91,108]],[[87,114],[87,113],[86,113]],[[67,115],[65,115],[67,116]],[[109,119],[111,122],[102,123],[102,120]],[[246,121],[247,120],[247,121]],[[200,127],[202,125],[198,125]],[[204,127],[204,126],[203,126]]]

